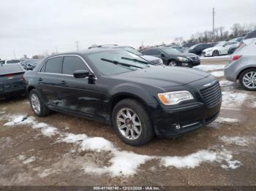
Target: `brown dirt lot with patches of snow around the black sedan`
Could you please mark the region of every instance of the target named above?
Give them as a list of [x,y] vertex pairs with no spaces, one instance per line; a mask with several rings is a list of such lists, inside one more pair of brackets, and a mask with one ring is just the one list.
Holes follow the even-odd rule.
[[256,185],[256,93],[224,79],[226,62],[199,67],[220,80],[220,117],[143,147],[98,122],[35,117],[26,98],[0,100],[0,185]]

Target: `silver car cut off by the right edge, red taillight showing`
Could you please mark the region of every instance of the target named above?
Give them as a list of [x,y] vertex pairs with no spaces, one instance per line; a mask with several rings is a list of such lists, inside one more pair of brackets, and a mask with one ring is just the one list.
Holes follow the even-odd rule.
[[246,90],[256,90],[256,31],[247,34],[242,45],[230,56],[225,66],[225,78],[232,82],[239,80]]

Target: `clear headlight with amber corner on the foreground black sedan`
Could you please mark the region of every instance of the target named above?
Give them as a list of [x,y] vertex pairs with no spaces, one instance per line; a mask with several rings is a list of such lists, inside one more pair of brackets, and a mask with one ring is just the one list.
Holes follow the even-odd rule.
[[167,93],[158,93],[158,98],[165,105],[175,105],[181,101],[193,99],[193,95],[189,91],[176,91]]

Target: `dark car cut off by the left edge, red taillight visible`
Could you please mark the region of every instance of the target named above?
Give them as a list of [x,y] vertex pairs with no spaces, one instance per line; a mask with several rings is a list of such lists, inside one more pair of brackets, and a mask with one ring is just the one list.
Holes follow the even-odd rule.
[[0,97],[25,93],[24,69],[18,63],[0,64]]

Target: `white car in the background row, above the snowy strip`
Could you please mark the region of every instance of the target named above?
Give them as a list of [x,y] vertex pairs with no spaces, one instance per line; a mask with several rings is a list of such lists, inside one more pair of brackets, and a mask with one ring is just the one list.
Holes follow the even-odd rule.
[[230,47],[236,47],[239,45],[239,42],[229,41],[229,42],[219,42],[214,47],[206,48],[203,50],[203,56],[218,56],[218,55],[227,55]]

